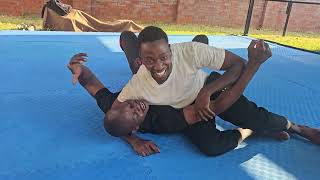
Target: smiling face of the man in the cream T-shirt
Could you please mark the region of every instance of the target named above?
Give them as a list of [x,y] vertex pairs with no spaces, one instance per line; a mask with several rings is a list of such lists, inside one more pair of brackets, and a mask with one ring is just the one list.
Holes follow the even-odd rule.
[[140,57],[142,64],[158,84],[162,84],[168,79],[172,71],[172,54],[165,39],[142,43]]

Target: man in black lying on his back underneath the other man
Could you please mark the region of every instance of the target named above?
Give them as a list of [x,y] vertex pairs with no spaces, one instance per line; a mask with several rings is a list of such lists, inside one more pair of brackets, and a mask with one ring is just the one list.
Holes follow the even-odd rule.
[[[123,33],[121,35],[122,40],[123,37],[126,36],[133,38],[132,34]],[[254,49],[255,48],[253,44],[249,46],[249,52],[253,51]],[[264,62],[258,62],[257,59],[254,60],[255,61],[249,61],[246,69],[243,71],[237,83],[232,86],[231,89],[227,89],[222,92],[222,94],[229,99],[217,98],[215,101],[212,101],[210,105],[219,107],[220,104],[232,104],[232,101],[235,101],[232,100],[232,98],[237,99],[236,97],[241,95],[246,84],[249,82],[260,64]],[[106,112],[111,107],[112,101],[117,98],[118,94],[110,93],[110,91],[104,89],[103,85],[94,77],[94,75],[85,66],[80,64],[84,61],[84,54],[78,54],[71,60],[69,68],[74,73],[74,81],[79,78],[80,83],[89,91],[91,95],[96,97],[100,108]],[[130,67],[132,66],[130,65]],[[136,69],[132,69],[133,72],[136,72],[135,70]],[[217,78],[219,78],[219,74],[212,73],[207,81],[209,83]],[[213,98],[216,98],[220,93],[221,92],[215,93]],[[126,135],[126,133],[131,132],[133,129],[137,129],[136,127],[139,126],[141,122],[142,124],[140,124],[140,130],[146,132],[160,133],[181,131],[187,137],[189,137],[202,152],[207,155],[219,155],[227,152],[235,148],[239,142],[252,133],[251,130],[241,128],[238,130],[227,130],[220,132],[215,129],[214,119],[210,120],[209,122],[198,122],[193,107],[194,105],[187,106],[184,109],[174,109],[169,106],[150,106],[148,111],[148,103],[146,101],[128,100],[121,111],[122,117],[119,119],[121,123],[112,122],[110,119],[112,119],[112,113],[114,112],[109,111],[106,114],[105,127],[110,134],[117,136],[120,134]],[[240,108],[244,114],[240,115]],[[252,115],[250,118],[257,119],[257,122],[251,122],[251,124],[248,123],[248,113],[251,113]],[[230,108],[228,108],[227,111],[220,113],[219,116],[225,120],[231,121],[236,125],[252,128],[257,132],[271,130],[277,135],[282,135],[283,138],[288,138],[289,135],[287,135],[287,133],[281,132],[283,129],[288,129],[288,122],[286,120],[275,121],[274,119],[268,119],[269,116],[267,116],[267,118],[263,117],[266,116],[266,114],[271,114],[271,117],[275,116],[279,119],[282,119],[281,116],[278,117],[275,114],[267,112],[265,109],[257,108],[254,103],[248,101],[244,96],[240,96],[240,98]],[[184,121],[183,115],[186,117],[186,120],[189,124],[196,123],[188,126],[187,122]],[[143,121],[144,118],[145,120]],[[293,128],[290,128],[290,131],[294,131],[291,129]],[[311,140],[313,140],[314,135],[312,134],[314,133],[314,130],[312,132],[304,130],[300,134],[311,137]],[[217,135],[220,136],[218,139]],[[159,151],[159,148],[152,142],[141,140],[134,135],[126,136],[124,139],[126,139],[141,155],[148,155],[150,153]]]

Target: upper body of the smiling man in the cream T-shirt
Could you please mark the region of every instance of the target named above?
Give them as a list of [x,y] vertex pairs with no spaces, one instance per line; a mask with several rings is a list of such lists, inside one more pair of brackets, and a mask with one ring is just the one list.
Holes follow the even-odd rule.
[[[242,58],[224,49],[198,42],[169,45],[165,32],[153,26],[139,34],[138,49],[142,65],[123,88],[113,108],[128,99],[142,98],[154,105],[174,108],[183,108],[195,101],[199,117],[213,118],[210,96],[233,84],[244,67]],[[208,74],[201,70],[203,67],[226,72],[214,85],[204,86]]]

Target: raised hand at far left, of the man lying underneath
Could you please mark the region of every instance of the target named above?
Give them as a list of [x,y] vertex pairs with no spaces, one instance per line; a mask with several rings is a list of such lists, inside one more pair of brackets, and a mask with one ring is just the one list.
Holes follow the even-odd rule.
[[74,55],[69,64],[68,68],[72,72],[72,84],[76,84],[79,81],[79,76],[82,73],[82,63],[87,62],[87,54],[86,53],[78,53]]

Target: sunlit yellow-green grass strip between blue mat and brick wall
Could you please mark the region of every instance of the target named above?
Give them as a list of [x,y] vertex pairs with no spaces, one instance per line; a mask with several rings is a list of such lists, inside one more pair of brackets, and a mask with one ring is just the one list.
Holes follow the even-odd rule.
[[[41,30],[42,19],[39,17],[12,17],[0,15],[0,30],[16,30],[19,24],[34,24],[36,29]],[[168,34],[206,34],[206,35],[242,35],[243,28],[227,28],[194,24],[168,24],[168,23],[148,23],[144,26],[154,25],[161,27]],[[320,52],[320,33],[288,32],[282,37],[280,31],[254,30],[250,29],[250,37],[266,39],[281,44]]]

